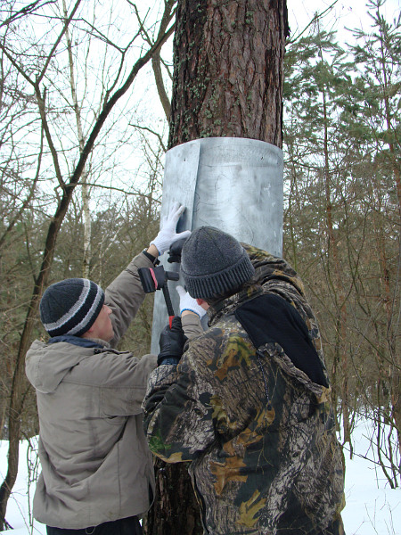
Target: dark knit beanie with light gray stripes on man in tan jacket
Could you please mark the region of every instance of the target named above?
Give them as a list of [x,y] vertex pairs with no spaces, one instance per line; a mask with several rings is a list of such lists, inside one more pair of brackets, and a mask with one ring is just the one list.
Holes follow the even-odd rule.
[[80,336],[94,325],[104,303],[102,288],[88,279],[70,278],[49,286],[40,301],[40,319],[51,336]]

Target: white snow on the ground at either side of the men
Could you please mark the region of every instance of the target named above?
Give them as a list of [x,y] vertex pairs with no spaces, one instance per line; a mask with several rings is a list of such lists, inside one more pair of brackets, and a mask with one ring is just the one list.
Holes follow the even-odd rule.
[[[347,535],[401,535],[401,489],[391,490],[384,474],[377,465],[360,456],[373,458],[369,437],[371,424],[363,421],[356,426],[352,436],[355,441],[354,457],[346,454],[346,500],[342,518]],[[0,441],[0,478],[6,472],[8,442]],[[35,465],[30,471],[35,472]],[[20,446],[20,470],[12,490],[6,514],[12,531],[7,535],[45,535],[45,526],[29,522],[35,484],[28,485],[27,442]],[[32,479],[32,478],[31,478]],[[29,488],[29,491],[27,490]]]

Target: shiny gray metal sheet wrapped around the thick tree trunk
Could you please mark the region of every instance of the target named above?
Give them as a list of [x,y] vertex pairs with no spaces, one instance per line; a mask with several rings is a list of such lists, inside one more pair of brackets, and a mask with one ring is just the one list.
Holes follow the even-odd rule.
[[[176,145],[166,154],[161,218],[173,202],[186,206],[178,230],[217,226],[241,242],[282,256],[282,150],[273,144],[241,137],[206,137]],[[165,269],[179,271],[160,259]],[[183,284],[179,282],[177,284]],[[168,282],[173,308],[179,313],[176,283]],[[168,313],[156,292],[151,351],[158,353]]]

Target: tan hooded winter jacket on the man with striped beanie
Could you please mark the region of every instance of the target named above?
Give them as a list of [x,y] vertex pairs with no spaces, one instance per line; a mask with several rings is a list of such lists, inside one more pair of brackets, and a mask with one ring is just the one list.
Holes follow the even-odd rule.
[[80,529],[144,514],[154,485],[141,402],[156,357],[112,349],[135,317],[144,293],[142,253],[105,291],[115,338],[100,347],[33,342],[26,373],[37,391],[40,424],[34,516]]

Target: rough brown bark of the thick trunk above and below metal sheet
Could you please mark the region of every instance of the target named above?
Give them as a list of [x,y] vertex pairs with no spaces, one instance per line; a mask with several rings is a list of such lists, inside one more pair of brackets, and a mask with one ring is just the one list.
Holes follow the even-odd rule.
[[[168,148],[201,137],[248,137],[282,147],[285,0],[179,0]],[[201,519],[185,465],[156,462],[148,535],[197,535]]]

